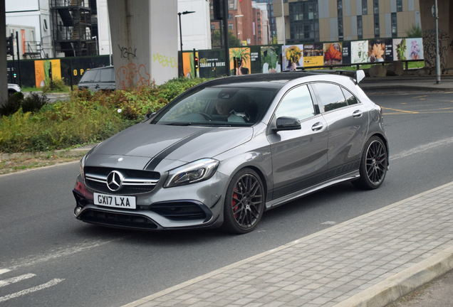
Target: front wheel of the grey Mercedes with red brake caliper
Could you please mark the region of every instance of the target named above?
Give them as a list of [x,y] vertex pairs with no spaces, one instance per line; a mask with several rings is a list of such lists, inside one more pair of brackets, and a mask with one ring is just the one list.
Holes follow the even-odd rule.
[[227,189],[222,229],[234,234],[254,230],[263,216],[264,200],[264,185],[259,175],[250,168],[241,169]]

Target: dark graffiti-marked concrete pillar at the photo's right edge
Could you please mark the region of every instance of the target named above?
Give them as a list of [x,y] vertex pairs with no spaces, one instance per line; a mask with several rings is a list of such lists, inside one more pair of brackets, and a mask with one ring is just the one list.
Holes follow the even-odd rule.
[[[420,19],[422,21],[423,53],[429,68],[436,68],[436,20],[431,14],[434,0],[420,1]],[[439,58],[440,68],[453,69],[453,2],[437,0],[439,6]],[[408,46],[407,48],[409,48]]]

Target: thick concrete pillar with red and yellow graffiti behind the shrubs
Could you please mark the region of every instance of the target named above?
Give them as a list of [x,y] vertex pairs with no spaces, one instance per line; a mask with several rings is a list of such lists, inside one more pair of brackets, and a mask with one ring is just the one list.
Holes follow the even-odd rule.
[[177,77],[177,0],[108,0],[117,89]]

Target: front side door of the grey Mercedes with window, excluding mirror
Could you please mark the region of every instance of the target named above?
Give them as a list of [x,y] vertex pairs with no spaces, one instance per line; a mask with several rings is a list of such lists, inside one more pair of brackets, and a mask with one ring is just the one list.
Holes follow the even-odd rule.
[[274,114],[274,126],[278,117],[296,117],[301,129],[268,131],[274,199],[324,181],[327,171],[327,124],[307,85],[286,93]]

